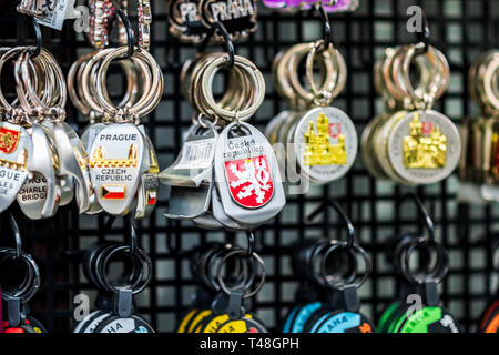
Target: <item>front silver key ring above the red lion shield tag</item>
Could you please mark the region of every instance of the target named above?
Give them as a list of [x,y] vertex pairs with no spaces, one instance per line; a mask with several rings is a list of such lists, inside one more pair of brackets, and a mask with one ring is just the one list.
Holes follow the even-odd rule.
[[[235,111],[228,111],[223,109],[220,104],[215,102],[215,99],[213,98],[213,79],[216,74],[216,72],[224,65],[226,65],[228,60],[227,54],[223,54],[214,59],[212,62],[210,62],[204,70],[202,78],[201,78],[201,91],[200,94],[202,97],[202,100],[206,103],[208,109],[212,112],[204,112],[208,116],[217,115],[226,121],[232,121],[235,116]],[[265,97],[265,81],[262,75],[262,72],[256,68],[253,62],[249,60],[235,55],[234,57],[234,65],[243,69],[249,78],[252,78],[253,82],[253,90],[255,91],[255,98],[251,101],[251,104],[248,108],[244,110],[238,111],[240,120],[244,121],[247,120],[249,116],[252,116],[262,104],[264,97]],[[212,113],[212,114],[211,114]]]

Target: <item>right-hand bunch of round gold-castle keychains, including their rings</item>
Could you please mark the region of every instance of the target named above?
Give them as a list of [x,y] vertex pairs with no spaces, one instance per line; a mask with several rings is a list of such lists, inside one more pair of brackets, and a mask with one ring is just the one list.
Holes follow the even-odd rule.
[[[413,64],[419,73],[416,87]],[[432,184],[449,176],[459,163],[461,140],[452,121],[431,110],[449,84],[445,55],[428,44],[427,34],[418,44],[387,49],[374,74],[387,112],[363,133],[368,172],[404,185]]]

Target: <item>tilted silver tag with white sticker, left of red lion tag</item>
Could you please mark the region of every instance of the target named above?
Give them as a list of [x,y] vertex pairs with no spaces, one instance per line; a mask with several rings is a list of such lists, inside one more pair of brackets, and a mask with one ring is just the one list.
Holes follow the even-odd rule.
[[213,125],[193,125],[173,164],[160,173],[162,184],[196,187],[212,178],[213,158],[218,134]]

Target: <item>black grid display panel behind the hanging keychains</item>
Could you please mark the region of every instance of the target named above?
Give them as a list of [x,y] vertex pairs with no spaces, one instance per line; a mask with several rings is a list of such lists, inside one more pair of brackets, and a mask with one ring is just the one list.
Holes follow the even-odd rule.
[[[467,91],[467,71],[480,52],[498,45],[498,0],[360,0],[359,9],[354,13],[330,16],[335,43],[348,63],[347,85],[335,105],[354,119],[359,133],[384,110],[374,92],[374,60],[386,47],[415,40],[414,34],[406,31],[406,10],[413,4],[424,8],[430,22],[431,42],[450,62],[451,84],[436,109],[457,123],[462,116],[476,113]],[[192,110],[180,92],[179,74],[182,63],[197,51],[167,33],[165,8],[165,0],[153,2],[151,50],[163,69],[165,91],[154,113],[144,118],[162,169],[174,160],[182,133],[191,122]],[[0,45],[32,43],[27,22],[13,12],[2,10]],[[267,79],[266,99],[252,119],[252,123],[263,129],[275,114],[286,109],[286,102],[276,94],[271,80],[274,55],[294,43],[320,38],[322,26],[318,18],[310,14],[269,11],[261,3],[258,10],[257,31],[237,42],[236,52],[253,60]],[[84,38],[73,31],[72,22],[65,23],[62,32],[44,29],[43,38],[44,45],[54,53],[65,72],[79,55],[90,51]],[[118,73],[115,75],[120,79]],[[6,71],[2,78],[4,91],[9,90],[7,77]],[[119,95],[121,92],[119,84],[111,93]],[[68,106],[68,110],[71,122],[78,122],[80,128],[86,124],[74,108]],[[297,286],[291,271],[291,244],[306,236],[338,236],[339,224],[332,212],[313,224],[304,222],[314,206],[334,199],[345,206],[357,227],[359,243],[373,256],[374,272],[360,295],[364,312],[377,321],[380,308],[395,297],[394,275],[384,257],[386,240],[400,231],[420,229],[417,211],[410,204],[403,210],[396,209],[407,191],[415,191],[434,216],[437,239],[449,250],[450,273],[441,285],[445,305],[457,316],[464,331],[476,331],[480,313],[497,287],[491,266],[491,235],[499,221],[499,209],[497,205],[459,203],[456,200],[458,190],[456,176],[417,189],[376,181],[367,174],[361,158],[358,158],[349,174],[340,181],[313,187],[306,195],[289,196],[275,223],[257,232],[257,250],[268,270],[266,285],[255,300],[258,315],[271,329],[281,328],[284,315],[294,304]],[[162,332],[175,328],[184,307],[191,302],[195,285],[189,273],[190,251],[210,241],[228,237],[236,237],[244,245],[244,236],[202,231],[189,222],[169,222],[163,216],[166,206],[167,191],[163,187],[155,214],[141,222],[139,229],[141,245],[155,266],[150,287],[138,296],[139,312]],[[35,222],[23,219],[16,206],[12,210],[22,221],[24,248],[37,255],[42,271],[43,285],[30,303],[32,313],[50,331],[69,332],[74,325],[74,295],[85,293],[92,300],[95,296],[93,286],[81,272],[82,251],[95,241],[123,240],[123,221],[116,221],[110,231],[105,231],[105,216],[79,216],[73,205],[61,207],[53,219]],[[4,243],[8,242],[2,245]]]

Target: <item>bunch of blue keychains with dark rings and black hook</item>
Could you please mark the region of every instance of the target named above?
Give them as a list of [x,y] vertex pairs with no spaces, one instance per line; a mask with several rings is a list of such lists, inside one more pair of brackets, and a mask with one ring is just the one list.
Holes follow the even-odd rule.
[[371,263],[365,250],[354,242],[352,222],[335,202],[318,206],[308,221],[328,206],[346,223],[348,239],[308,239],[295,246],[293,270],[301,280],[296,292],[298,305],[286,316],[283,333],[374,333],[373,323],[360,312],[357,295]]

